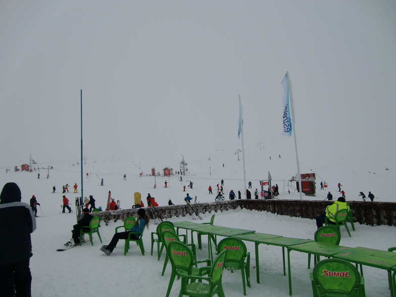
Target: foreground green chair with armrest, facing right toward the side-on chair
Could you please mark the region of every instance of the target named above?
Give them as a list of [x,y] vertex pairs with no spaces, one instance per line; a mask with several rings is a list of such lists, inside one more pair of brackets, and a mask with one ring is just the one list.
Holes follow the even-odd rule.
[[[190,248],[182,242],[170,242],[167,253],[172,265],[172,274],[169,280],[166,297],[169,297],[176,276],[177,278],[180,278],[182,275],[189,275],[191,276],[191,279],[195,279],[196,277],[207,275],[211,269],[210,260],[194,261],[194,255]],[[198,263],[206,263],[207,266],[200,268],[194,267]]]

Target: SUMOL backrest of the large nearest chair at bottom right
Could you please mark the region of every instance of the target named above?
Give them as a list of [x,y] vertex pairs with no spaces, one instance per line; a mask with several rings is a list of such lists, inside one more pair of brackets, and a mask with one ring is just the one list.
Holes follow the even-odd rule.
[[339,259],[318,262],[312,275],[319,284],[317,288],[321,296],[325,293],[351,293],[361,282],[358,269],[350,262]]

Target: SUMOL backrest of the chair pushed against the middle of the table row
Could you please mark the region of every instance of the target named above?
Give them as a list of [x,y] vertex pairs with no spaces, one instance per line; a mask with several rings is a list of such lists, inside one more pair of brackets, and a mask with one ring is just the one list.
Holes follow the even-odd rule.
[[227,257],[225,260],[226,267],[235,269],[240,268],[240,264],[243,263],[246,258],[246,254],[248,253],[248,249],[246,249],[246,245],[239,238],[234,237],[226,237],[222,239],[217,245],[217,253],[220,255],[220,252],[227,250]]

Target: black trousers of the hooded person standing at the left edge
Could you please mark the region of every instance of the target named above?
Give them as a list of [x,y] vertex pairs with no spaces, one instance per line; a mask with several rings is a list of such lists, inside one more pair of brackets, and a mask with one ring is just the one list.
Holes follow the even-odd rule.
[[31,297],[30,258],[0,267],[2,297]]

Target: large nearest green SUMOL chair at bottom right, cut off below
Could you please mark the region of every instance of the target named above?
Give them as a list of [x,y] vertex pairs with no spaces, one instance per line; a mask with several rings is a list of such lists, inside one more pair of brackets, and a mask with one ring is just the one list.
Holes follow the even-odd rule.
[[314,297],[365,297],[364,278],[350,262],[326,259],[310,273]]

